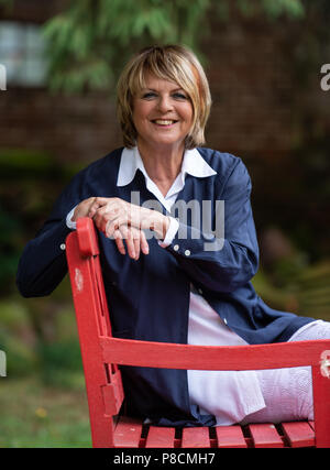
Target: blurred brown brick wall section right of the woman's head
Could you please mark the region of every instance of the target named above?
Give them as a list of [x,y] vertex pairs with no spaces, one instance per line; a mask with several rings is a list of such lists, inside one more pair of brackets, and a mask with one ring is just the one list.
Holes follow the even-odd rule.
[[213,22],[205,44],[213,96],[211,145],[248,157],[285,159],[304,139],[301,133],[314,132],[310,125],[327,134],[330,92],[320,89],[319,64],[308,77],[297,75],[294,64],[293,51],[305,28],[261,21],[219,28]]

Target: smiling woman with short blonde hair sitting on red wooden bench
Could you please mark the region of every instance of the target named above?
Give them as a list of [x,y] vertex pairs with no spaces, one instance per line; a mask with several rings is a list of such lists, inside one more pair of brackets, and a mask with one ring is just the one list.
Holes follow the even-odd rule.
[[[124,147],[64,190],[21,258],[22,295],[58,285],[66,236],[90,217],[114,336],[195,345],[330,337],[329,324],[276,311],[256,295],[251,182],[240,159],[201,147],[210,105],[204,69],[187,48],[154,46],[130,61],[118,85]],[[122,372],[128,412],[158,425],[312,417],[308,368]]]

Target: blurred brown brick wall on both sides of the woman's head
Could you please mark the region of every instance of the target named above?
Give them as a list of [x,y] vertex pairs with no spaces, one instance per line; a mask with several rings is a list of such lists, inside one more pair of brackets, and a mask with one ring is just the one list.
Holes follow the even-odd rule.
[[[34,3],[29,11],[19,9],[20,19],[31,21]],[[38,21],[54,8],[38,13]],[[285,159],[304,132],[305,118],[298,116],[297,103],[319,131],[329,130],[330,91],[326,96],[320,90],[319,70],[305,90],[297,87],[287,51],[290,28],[289,23],[212,22],[202,46],[213,98],[208,146],[251,161]],[[85,162],[118,145],[114,105],[105,94],[77,98],[50,96],[43,89],[0,91],[1,147],[46,150],[58,161]]]

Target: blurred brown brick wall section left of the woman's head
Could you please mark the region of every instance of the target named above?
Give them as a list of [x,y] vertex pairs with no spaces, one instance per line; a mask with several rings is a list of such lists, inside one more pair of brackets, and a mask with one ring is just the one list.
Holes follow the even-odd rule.
[[48,96],[9,88],[0,95],[0,146],[46,151],[56,161],[89,162],[121,145],[116,110],[107,95]]

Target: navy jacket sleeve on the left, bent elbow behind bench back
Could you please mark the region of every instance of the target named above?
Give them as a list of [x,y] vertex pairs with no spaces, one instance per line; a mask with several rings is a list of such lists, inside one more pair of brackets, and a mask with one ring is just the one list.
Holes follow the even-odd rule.
[[67,273],[65,240],[70,229],[66,216],[81,199],[79,178],[57,199],[50,218],[25,245],[18,265],[16,285],[24,297],[51,294]]

